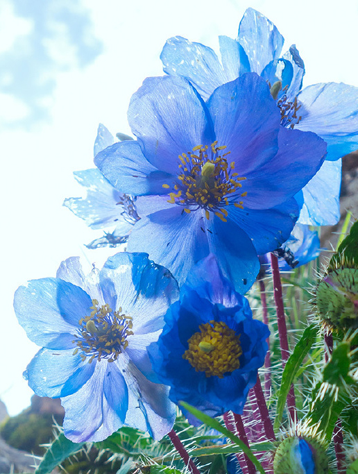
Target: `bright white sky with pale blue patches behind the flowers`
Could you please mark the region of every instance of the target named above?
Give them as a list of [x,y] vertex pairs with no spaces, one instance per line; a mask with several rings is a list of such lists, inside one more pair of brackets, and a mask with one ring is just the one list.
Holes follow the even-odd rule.
[[94,167],[99,122],[130,134],[130,96],[162,75],[165,41],[181,35],[217,51],[248,7],[275,23],[284,50],[296,44],[304,85],[358,87],[357,0],[0,0],[0,398],[11,415],[30,403],[22,372],[38,350],[17,323],[15,290],[55,276],[67,257],[101,266],[115,252],[85,248],[102,232],[62,207],[82,194],[72,172]]

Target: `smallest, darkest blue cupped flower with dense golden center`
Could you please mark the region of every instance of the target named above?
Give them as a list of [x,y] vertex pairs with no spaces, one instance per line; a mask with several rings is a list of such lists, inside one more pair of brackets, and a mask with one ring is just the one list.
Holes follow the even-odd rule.
[[164,320],[148,352],[158,378],[171,387],[169,398],[210,416],[241,414],[264,364],[269,328],[253,319],[247,299],[223,278],[214,255],[194,266]]

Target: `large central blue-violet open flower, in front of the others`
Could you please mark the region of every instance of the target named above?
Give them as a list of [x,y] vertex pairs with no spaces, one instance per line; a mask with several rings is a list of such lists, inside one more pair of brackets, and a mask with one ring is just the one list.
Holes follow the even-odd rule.
[[95,158],[112,185],[142,196],[128,250],[147,252],[180,284],[214,253],[237,291],[247,291],[257,255],[289,238],[293,196],[321,167],[325,142],[282,127],[269,86],[253,73],[218,87],[206,104],[184,78],[148,78],[128,120],[137,141]]

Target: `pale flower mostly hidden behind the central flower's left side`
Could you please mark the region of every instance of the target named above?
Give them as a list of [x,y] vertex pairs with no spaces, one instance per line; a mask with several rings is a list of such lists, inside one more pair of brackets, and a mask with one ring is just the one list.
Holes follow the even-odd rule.
[[[108,129],[99,124],[94,156],[115,142],[116,139]],[[117,191],[97,168],[74,171],[74,177],[85,187],[87,195],[85,198],[67,198],[63,205],[92,229],[115,226],[112,232],[105,232],[103,237],[95,239],[87,247],[115,247],[127,242],[133,224],[139,219],[135,198]]]

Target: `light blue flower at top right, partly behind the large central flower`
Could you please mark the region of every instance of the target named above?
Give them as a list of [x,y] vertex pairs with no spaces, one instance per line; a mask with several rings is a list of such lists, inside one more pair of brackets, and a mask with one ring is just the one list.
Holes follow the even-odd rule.
[[[237,39],[219,37],[221,62],[212,49],[179,36],[167,41],[161,58],[167,74],[187,78],[204,99],[219,85],[256,72],[273,87],[282,125],[321,136],[327,142],[327,160],[358,149],[358,88],[327,83],[302,90],[305,65],[295,45],[281,56],[283,43],[275,25],[248,8]],[[308,211],[301,214],[300,223],[326,226],[339,220],[340,177],[340,165],[327,164],[318,171],[315,181],[305,187]]]

